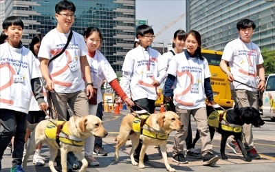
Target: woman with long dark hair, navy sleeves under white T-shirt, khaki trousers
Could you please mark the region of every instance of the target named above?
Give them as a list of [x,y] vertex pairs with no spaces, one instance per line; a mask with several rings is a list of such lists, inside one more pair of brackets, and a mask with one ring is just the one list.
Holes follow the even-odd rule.
[[[167,78],[164,85],[164,96],[175,104],[176,113],[184,125],[184,129],[176,131],[173,147],[173,161],[186,163],[184,158],[184,145],[190,121],[190,114],[194,116],[197,129],[200,132],[203,155],[203,165],[210,165],[219,160],[212,153],[212,144],[209,142],[210,133],[207,122],[206,103],[213,103],[212,88],[210,85],[210,71],[206,58],[201,56],[201,35],[191,30],[186,35],[186,50],[176,54],[170,61]],[[174,87],[173,93],[171,87]]]

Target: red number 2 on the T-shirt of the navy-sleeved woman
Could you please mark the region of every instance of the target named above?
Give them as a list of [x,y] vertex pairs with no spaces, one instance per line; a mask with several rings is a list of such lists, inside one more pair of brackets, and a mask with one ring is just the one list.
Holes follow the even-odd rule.
[[180,100],[180,96],[184,96],[186,93],[188,93],[190,90],[191,90],[191,85],[194,83],[194,78],[191,74],[191,72],[187,72],[187,71],[184,71],[184,72],[177,72],[177,76],[180,78],[181,76],[183,75],[187,75],[189,78],[190,78],[190,84],[188,85],[188,87],[181,93],[179,94],[175,94],[175,102],[181,104],[181,105],[184,105],[184,106],[193,106],[194,103],[190,103],[190,102],[184,102],[183,100]]

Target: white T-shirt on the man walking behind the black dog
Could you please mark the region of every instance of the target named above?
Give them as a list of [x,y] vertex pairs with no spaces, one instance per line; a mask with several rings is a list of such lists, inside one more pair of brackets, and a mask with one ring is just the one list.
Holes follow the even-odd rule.
[[[225,45],[221,59],[228,61],[235,80],[257,87],[256,65],[263,64],[263,56],[260,48],[255,43],[243,43],[241,39],[234,39]],[[246,89],[256,92],[256,89],[241,83],[233,82],[234,89]]]

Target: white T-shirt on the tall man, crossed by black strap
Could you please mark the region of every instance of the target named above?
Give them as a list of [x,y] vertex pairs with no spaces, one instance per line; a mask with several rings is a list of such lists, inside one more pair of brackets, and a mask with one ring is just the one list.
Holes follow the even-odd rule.
[[[69,33],[63,34],[56,29],[48,32],[41,42],[39,58],[51,59],[67,43]],[[72,39],[61,56],[55,58],[49,65],[49,73],[54,82],[54,89],[61,93],[74,93],[85,89],[85,82],[80,67],[80,56],[87,55],[87,48],[83,36],[73,31]],[[76,62],[78,69],[74,72],[69,63]]]

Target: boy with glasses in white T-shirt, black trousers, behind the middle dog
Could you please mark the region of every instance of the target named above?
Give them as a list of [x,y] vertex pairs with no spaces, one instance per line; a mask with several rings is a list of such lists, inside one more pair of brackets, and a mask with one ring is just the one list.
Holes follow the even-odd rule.
[[[142,107],[153,114],[157,99],[156,87],[165,78],[165,72],[164,74],[159,73],[161,54],[149,47],[155,38],[154,31],[150,26],[139,25],[136,30],[136,38],[140,40],[140,46],[130,50],[124,59],[122,89],[138,105],[138,107],[135,106],[136,110],[140,110]],[[142,143],[140,142],[135,149],[135,160],[139,160],[141,147]],[[144,160],[148,160],[148,155],[144,155]]]

